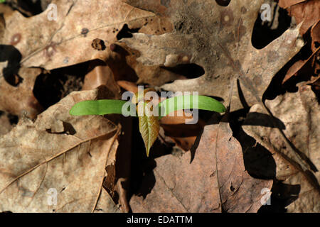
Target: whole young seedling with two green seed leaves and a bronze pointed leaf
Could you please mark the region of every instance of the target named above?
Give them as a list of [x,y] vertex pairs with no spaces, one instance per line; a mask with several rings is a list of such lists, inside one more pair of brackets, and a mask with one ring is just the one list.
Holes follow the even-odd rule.
[[[151,89],[145,89],[142,94],[135,94],[131,102],[113,99],[80,101],[70,109],[70,115],[124,114],[124,109],[127,109],[124,108],[124,105],[131,107],[133,105],[134,111],[131,111],[131,114],[124,114],[124,116],[139,117],[139,131],[146,146],[146,155],[149,156],[151,145],[154,144],[154,141],[159,135],[159,120],[162,117],[174,111],[186,109],[201,109],[218,113],[225,112],[225,106],[219,101],[201,95],[174,96],[154,105],[150,100],[145,99],[146,92],[150,90]],[[137,99],[135,97],[137,97]]]

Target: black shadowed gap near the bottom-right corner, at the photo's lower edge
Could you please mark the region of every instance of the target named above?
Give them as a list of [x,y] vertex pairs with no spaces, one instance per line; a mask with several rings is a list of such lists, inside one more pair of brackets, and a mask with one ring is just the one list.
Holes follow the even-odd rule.
[[301,186],[299,184],[284,184],[277,179],[271,189],[270,205],[261,206],[258,213],[286,213],[286,207],[299,197]]

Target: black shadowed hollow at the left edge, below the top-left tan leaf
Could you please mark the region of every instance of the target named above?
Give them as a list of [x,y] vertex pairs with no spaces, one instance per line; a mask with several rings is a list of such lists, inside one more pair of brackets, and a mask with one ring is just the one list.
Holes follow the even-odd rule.
[[4,79],[8,84],[16,87],[22,82],[18,75],[20,69],[21,53],[13,45],[0,45],[0,62],[8,61],[8,65],[2,70]]

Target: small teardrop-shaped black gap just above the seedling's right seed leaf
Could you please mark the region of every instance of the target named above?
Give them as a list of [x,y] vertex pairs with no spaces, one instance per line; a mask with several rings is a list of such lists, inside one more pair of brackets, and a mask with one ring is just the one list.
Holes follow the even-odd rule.
[[197,77],[201,77],[203,74],[205,74],[205,70],[203,70],[203,67],[196,64],[183,64],[183,65],[176,65],[175,67],[161,67],[164,70],[168,70],[170,72],[174,72],[176,74],[181,74],[186,79],[193,79]]

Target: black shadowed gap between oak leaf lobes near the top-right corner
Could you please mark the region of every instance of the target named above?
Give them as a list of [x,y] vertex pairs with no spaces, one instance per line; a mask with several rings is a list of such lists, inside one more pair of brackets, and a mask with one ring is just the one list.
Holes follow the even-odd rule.
[[279,8],[279,17],[274,18],[274,16],[276,15],[276,9],[277,7],[274,7],[273,18],[271,18],[272,22],[274,22],[274,20],[278,20],[279,22],[279,25],[275,29],[271,28],[271,21],[264,21],[265,23],[262,23],[260,13],[257,16],[257,20],[255,21],[255,26],[253,27],[251,36],[251,43],[255,48],[265,48],[265,46],[282,35],[282,33],[287,31],[288,28],[290,28],[291,17],[288,15],[287,11],[285,9]]

